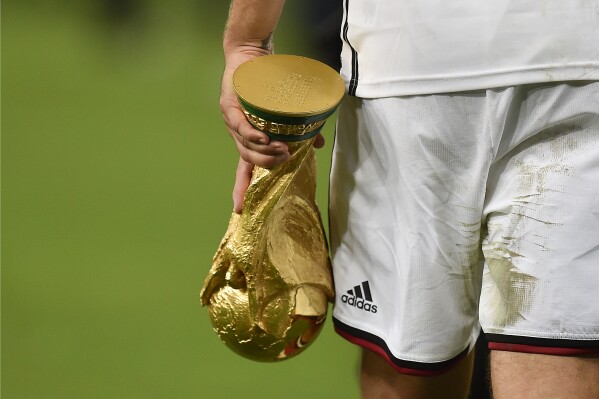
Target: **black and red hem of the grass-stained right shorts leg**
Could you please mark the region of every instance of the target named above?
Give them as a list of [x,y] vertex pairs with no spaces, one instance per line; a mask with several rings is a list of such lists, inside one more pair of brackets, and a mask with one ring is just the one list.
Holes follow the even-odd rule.
[[556,356],[599,354],[599,340],[572,340],[485,334],[489,349]]

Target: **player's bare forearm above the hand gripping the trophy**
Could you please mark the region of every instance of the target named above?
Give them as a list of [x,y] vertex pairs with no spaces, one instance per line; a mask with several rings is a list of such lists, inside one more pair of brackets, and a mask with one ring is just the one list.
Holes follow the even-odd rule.
[[285,0],[232,0],[223,40],[225,55],[240,48],[271,53],[284,4]]

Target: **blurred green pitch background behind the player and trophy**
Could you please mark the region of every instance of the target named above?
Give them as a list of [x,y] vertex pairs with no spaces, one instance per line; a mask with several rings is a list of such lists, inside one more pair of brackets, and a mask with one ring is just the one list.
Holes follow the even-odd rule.
[[[237,160],[228,1],[124,3],[2,2],[2,398],[357,398],[358,351],[330,320],[276,364],[212,332],[198,293]],[[278,53],[309,55],[300,3]]]

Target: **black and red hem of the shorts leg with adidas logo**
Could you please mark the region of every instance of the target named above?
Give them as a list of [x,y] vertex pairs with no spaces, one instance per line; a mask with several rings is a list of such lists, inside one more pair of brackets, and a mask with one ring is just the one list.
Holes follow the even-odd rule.
[[455,366],[455,364],[458,363],[462,358],[464,358],[468,354],[469,350],[469,347],[466,347],[466,349],[464,349],[457,356],[442,362],[422,363],[410,360],[402,360],[393,356],[389,350],[389,347],[382,338],[369,332],[351,327],[339,321],[335,317],[333,317],[333,324],[335,327],[335,332],[341,337],[355,345],[371,350],[382,356],[391,365],[391,367],[401,374],[419,377],[431,377],[443,374]]

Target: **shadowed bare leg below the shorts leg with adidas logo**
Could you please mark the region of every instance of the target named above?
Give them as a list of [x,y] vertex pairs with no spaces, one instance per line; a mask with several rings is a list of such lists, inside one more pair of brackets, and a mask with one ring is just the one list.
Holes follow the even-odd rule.
[[362,351],[360,383],[363,399],[464,399],[468,396],[473,352],[451,370],[434,377],[415,377],[395,371],[374,352]]

